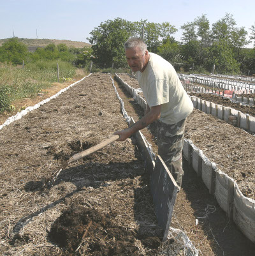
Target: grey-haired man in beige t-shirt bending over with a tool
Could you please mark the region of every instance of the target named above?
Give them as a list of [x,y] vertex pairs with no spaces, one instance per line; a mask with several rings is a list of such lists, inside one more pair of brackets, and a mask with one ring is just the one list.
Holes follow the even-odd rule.
[[119,141],[123,141],[156,121],[158,154],[181,186],[185,121],[193,111],[193,103],[173,66],[157,54],[149,53],[140,38],[129,38],[124,48],[147,101],[147,109],[138,122],[114,134],[120,135]]

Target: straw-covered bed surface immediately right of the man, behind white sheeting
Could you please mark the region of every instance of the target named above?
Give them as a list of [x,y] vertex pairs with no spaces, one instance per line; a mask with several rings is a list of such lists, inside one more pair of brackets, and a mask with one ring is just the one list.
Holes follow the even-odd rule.
[[[138,82],[129,75],[121,74],[119,77],[138,89]],[[192,140],[196,147],[203,150],[222,172],[233,177],[245,196],[255,199],[255,137],[252,134],[194,110],[187,119],[186,139]]]

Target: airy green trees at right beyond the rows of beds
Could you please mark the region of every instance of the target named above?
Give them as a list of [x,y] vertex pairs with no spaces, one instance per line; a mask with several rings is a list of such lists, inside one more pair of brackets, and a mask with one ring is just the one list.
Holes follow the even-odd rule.
[[184,24],[184,44],[181,50],[184,61],[194,63],[200,70],[206,68],[211,71],[212,65],[215,64],[219,73],[240,72],[240,67],[246,66],[245,61],[242,61],[244,56],[240,57],[240,52],[249,41],[246,39],[247,31],[244,27],[235,26],[233,15],[229,13],[212,24],[211,31],[205,15]]

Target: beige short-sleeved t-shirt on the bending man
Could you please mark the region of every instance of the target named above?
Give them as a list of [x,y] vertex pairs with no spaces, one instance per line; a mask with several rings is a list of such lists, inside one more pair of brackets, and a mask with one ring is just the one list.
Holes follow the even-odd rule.
[[173,66],[163,57],[149,54],[145,70],[135,73],[143,95],[149,107],[162,105],[160,121],[166,124],[178,123],[191,114],[193,103]]

